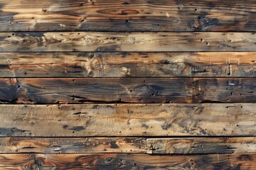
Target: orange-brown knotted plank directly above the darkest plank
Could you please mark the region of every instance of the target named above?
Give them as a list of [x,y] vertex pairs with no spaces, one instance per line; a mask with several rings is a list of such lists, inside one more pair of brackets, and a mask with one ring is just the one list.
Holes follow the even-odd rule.
[[0,77],[256,77],[255,66],[256,52],[0,53]]

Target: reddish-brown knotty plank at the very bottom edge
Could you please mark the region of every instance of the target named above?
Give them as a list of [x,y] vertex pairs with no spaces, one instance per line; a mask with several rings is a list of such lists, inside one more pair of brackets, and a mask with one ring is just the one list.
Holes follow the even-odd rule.
[[[6,167],[7,166],[7,167]],[[151,156],[148,154],[0,154],[5,169],[247,169],[256,154]]]

